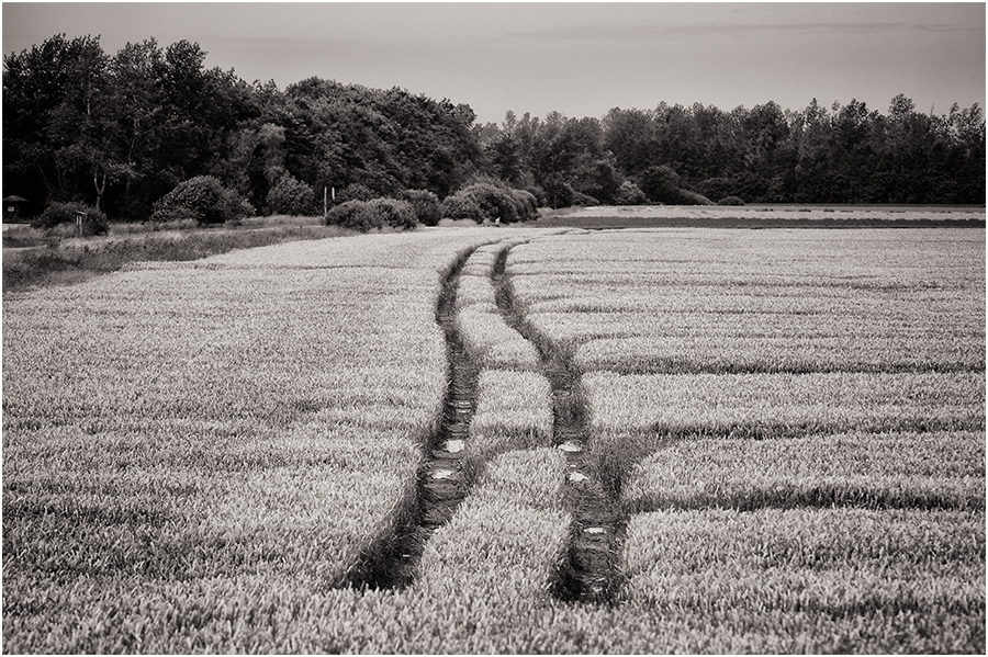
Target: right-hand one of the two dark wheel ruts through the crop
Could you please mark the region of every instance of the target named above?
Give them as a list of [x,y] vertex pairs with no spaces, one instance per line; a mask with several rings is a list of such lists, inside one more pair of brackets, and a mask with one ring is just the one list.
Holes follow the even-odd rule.
[[505,273],[508,251],[494,262],[497,307],[508,326],[535,344],[552,389],[552,440],[566,456],[564,503],[573,518],[553,594],[570,602],[611,603],[620,588],[619,559],[627,519],[608,495],[586,454],[590,431],[580,371],[565,349],[552,343],[518,310]]

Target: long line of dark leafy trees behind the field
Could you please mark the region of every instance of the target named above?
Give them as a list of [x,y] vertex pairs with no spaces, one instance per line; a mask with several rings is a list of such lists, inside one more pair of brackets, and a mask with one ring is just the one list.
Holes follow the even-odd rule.
[[258,213],[336,201],[439,200],[476,183],[553,207],[638,203],[985,202],[985,116],[905,95],[888,112],[813,100],[722,111],[699,103],[614,109],[602,118],[508,112],[312,77],[248,83],[204,66],[187,41],[108,55],[99,37],[55,35],[3,57],[3,195],[27,214],[82,201],[145,220],[183,181],[207,175]]

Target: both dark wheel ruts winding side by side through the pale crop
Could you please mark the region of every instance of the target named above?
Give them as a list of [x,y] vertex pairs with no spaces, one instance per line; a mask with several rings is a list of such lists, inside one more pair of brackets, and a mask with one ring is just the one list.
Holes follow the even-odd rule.
[[[610,603],[620,586],[618,559],[626,520],[593,475],[595,468],[586,455],[588,431],[580,372],[565,350],[539,333],[516,307],[505,273],[513,247],[506,246],[495,259],[491,279],[497,307],[507,325],[532,342],[540,355],[552,389],[553,445],[566,456],[563,499],[573,520],[551,590],[564,601]],[[478,248],[456,260],[444,279],[436,307],[436,321],[446,339],[448,387],[438,431],[425,445],[415,499],[400,510],[391,535],[364,551],[346,586],[402,588],[412,584],[429,536],[449,521],[476,478],[479,466],[465,457],[465,445],[476,410],[480,366],[467,353],[456,328],[456,299],[463,267]]]

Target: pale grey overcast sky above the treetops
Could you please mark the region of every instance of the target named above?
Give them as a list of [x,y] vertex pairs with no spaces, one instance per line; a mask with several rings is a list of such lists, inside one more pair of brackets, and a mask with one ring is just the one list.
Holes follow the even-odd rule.
[[897,93],[938,114],[985,105],[983,2],[3,2],[4,54],[57,33],[101,35],[111,55],[184,38],[247,81],[401,87],[479,122],[812,98],[885,113]]

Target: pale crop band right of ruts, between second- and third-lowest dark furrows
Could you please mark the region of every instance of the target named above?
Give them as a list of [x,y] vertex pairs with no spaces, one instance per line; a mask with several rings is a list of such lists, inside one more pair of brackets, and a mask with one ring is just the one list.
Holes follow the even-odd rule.
[[595,434],[782,438],[984,430],[977,373],[583,376]]

